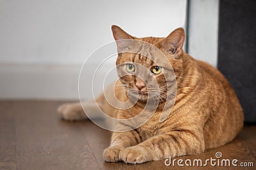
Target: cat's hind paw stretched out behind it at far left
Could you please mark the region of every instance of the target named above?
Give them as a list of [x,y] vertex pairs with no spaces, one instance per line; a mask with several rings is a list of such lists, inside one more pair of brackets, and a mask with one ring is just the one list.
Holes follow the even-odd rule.
[[83,109],[80,103],[65,103],[58,107],[58,113],[61,114],[61,117],[65,120],[84,120],[86,115],[83,112]]

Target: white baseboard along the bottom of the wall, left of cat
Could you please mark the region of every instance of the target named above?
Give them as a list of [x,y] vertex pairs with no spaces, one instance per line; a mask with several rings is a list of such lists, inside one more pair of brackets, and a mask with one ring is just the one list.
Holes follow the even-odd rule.
[[[83,64],[0,64],[0,99],[46,99],[79,100],[78,81]],[[92,80],[99,64],[90,63],[83,69],[80,78],[81,98],[93,99]],[[116,80],[108,71],[115,64],[106,63],[97,71],[93,80],[95,97],[103,91],[103,82],[108,86]],[[111,74],[110,74],[111,75]]]

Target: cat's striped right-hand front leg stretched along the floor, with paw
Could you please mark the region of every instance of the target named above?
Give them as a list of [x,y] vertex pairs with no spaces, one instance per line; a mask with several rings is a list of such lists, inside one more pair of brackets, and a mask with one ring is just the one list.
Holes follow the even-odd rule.
[[193,131],[172,131],[147,139],[120,152],[120,159],[130,164],[204,152],[204,135]]

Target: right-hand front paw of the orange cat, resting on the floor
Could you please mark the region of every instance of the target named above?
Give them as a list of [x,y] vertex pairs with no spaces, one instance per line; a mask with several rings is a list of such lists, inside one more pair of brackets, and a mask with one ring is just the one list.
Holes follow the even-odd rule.
[[140,146],[126,148],[120,153],[120,159],[129,164],[141,164],[149,161],[145,149]]

